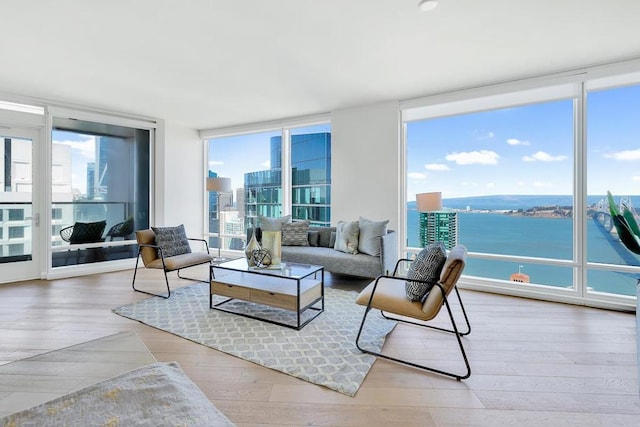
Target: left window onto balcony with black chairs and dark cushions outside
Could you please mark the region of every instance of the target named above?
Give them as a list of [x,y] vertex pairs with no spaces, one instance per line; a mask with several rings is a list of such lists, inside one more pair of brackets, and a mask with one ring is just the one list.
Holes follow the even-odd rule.
[[151,129],[53,117],[52,267],[131,258],[150,215]]

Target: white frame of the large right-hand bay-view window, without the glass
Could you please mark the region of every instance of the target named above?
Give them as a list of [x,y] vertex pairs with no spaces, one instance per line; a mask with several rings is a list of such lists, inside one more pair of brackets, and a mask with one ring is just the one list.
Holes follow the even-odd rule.
[[[637,67],[636,67],[637,69]],[[399,194],[401,212],[399,218],[401,253],[412,254],[418,249],[408,247],[407,242],[407,123],[426,119],[463,115],[496,108],[531,105],[538,102],[559,99],[573,99],[574,141],[573,141],[573,259],[534,259],[512,255],[469,253],[470,258],[509,262],[536,262],[550,266],[571,267],[574,289],[550,286],[509,286],[508,281],[482,277],[464,277],[462,287],[482,291],[498,292],[517,296],[533,297],[552,301],[585,304],[595,307],[628,309],[635,308],[636,297],[618,294],[598,294],[587,292],[586,276],[589,269],[603,269],[617,272],[640,273],[639,267],[610,265],[588,262],[586,256],[587,220],[587,134],[586,108],[589,90],[603,90],[640,84],[640,72],[626,72],[622,69],[597,68],[584,73],[543,76],[534,79],[510,82],[482,88],[440,94],[400,103],[401,111],[401,189]]]

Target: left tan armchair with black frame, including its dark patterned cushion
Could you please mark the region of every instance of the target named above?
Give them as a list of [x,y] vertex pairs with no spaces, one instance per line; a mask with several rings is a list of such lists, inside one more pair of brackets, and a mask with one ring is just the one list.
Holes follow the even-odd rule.
[[[213,257],[209,255],[209,245],[207,241],[204,239],[188,238],[183,225],[177,227],[151,227],[151,229],[139,230],[136,231],[136,240],[138,241],[138,257],[136,259],[136,268],[133,272],[131,286],[134,291],[148,295],[169,298],[171,296],[171,288],[169,287],[167,272],[176,271],[178,277],[181,279],[200,280],[182,277],[180,276],[180,270],[196,265],[210,264],[213,259]],[[202,242],[206,252],[191,252],[189,241]],[[136,273],[138,272],[140,258],[142,258],[142,263],[146,268],[163,270],[164,280],[167,284],[166,296],[136,288]],[[200,281],[207,282],[206,280]],[[210,282],[211,268],[209,268],[209,283]]]

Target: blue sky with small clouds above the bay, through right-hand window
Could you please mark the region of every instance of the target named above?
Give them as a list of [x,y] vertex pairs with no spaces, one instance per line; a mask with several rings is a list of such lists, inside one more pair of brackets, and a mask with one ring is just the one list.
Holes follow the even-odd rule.
[[[640,86],[589,95],[588,193],[637,195]],[[573,101],[409,123],[408,200],[573,192]]]

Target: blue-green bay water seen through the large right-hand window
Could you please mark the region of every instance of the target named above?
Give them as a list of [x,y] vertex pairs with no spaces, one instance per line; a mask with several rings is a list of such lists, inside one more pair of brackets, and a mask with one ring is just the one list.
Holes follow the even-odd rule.
[[[419,247],[419,214],[408,211],[407,243]],[[470,252],[571,260],[573,258],[573,220],[541,218],[501,213],[458,213],[458,243]],[[593,219],[587,224],[589,261],[619,265],[640,265],[640,258],[628,251]],[[573,271],[567,267],[470,259],[465,274],[509,280],[518,270],[532,283],[570,287]],[[636,294],[638,275],[590,270],[588,286],[601,292]]]

